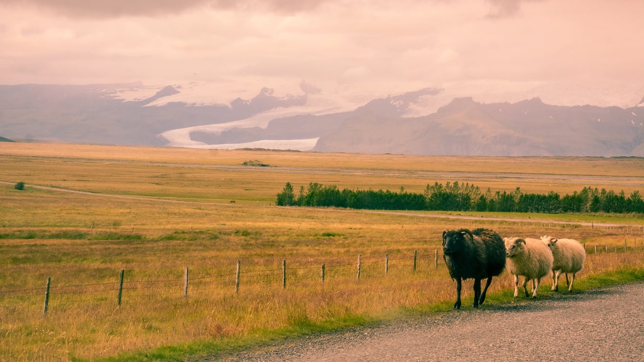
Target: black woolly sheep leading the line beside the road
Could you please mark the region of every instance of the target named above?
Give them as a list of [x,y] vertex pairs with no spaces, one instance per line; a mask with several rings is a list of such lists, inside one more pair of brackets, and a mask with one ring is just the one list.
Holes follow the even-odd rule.
[[[474,307],[485,300],[492,277],[506,267],[506,245],[501,236],[491,229],[460,229],[443,231],[443,259],[456,280],[455,309],[460,309],[461,280],[474,279]],[[482,279],[488,278],[481,292]]]

